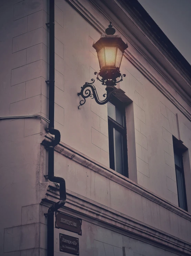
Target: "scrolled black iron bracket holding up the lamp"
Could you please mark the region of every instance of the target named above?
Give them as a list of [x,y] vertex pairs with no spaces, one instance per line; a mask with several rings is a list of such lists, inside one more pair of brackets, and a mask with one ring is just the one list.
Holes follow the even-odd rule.
[[104,100],[100,100],[99,99],[99,96],[98,96],[98,93],[97,93],[97,90],[96,90],[96,87],[93,85],[93,83],[95,82],[95,80],[92,78],[91,79],[91,83],[89,82],[85,82],[85,84],[81,87],[81,91],[78,92],[78,96],[82,96],[82,100],[80,100],[80,105],[78,106],[78,109],[81,109],[80,106],[82,106],[83,104],[86,103],[86,98],[90,97],[90,98],[94,98],[96,100],[96,102],[99,104],[99,105],[104,105],[106,104],[112,95],[115,95],[116,93],[114,92],[114,86],[117,85],[117,83],[121,82],[123,80],[123,77],[125,77],[126,75],[123,74],[119,77],[121,77],[121,79],[119,81],[117,81],[116,79],[115,80],[104,80],[103,78],[100,80],[99,79],[99,75],[97,72],[94,72],[94,74],[96,75],[97,74],[97,80],[99,80],[102,85],[106,85],[107,87],[105,88],[106,92],[105,94],[103,94],[103,97],[106,97]]

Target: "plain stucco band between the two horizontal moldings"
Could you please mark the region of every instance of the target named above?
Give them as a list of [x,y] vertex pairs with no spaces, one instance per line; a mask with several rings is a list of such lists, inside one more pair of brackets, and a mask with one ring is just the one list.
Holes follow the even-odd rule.
[[[191,223],[176,213],[152,202],[142,194],[135,193],[118,181],[104,177],[96,171],[79,165],[60,153],[55,153],[55,175],[64,177],[66,188],[92,201],[105,205],[151,227],[169,233],[187,242],[190,241]],[[121,175],[122,176],[122,175]]]

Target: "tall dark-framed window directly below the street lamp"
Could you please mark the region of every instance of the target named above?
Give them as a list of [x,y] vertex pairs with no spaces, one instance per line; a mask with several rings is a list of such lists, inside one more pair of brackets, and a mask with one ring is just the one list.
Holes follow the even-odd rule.
[[108,102],[110,168],[128,177],[125,108],[117,98]]

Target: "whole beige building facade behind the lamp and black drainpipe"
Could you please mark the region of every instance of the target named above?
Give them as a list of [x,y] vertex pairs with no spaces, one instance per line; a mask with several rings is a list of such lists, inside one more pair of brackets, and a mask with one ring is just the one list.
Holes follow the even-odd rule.
[[[54,256],[70,255],[60,234],[79,239],[81,256],[191,255],[189,63],[137,0],[55,0],[54,8],[54,175],[67,192],[58,211],[82,220],[80,234],[68,220],[54,225]],[[2,0],[0,12],[0,117],[26,116],[0,120],[0,255],[44,256],[46,214],[60,200],[46,176],[54,136],[46,119],[27,116],[49,118],[49,1]],[[93,42],[109,21],[129,46],[126,77],[108,104],[87,98],[79,109],[77,93],[100,70]],[[104,86],[94,85],[102,99]]]

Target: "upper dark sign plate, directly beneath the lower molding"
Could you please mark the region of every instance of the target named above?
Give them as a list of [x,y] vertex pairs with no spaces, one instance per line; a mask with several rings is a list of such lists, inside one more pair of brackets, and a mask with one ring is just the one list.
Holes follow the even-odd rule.
[[56,212],[56,228],[62,228],[82,235],[82,220],[61,212]]

